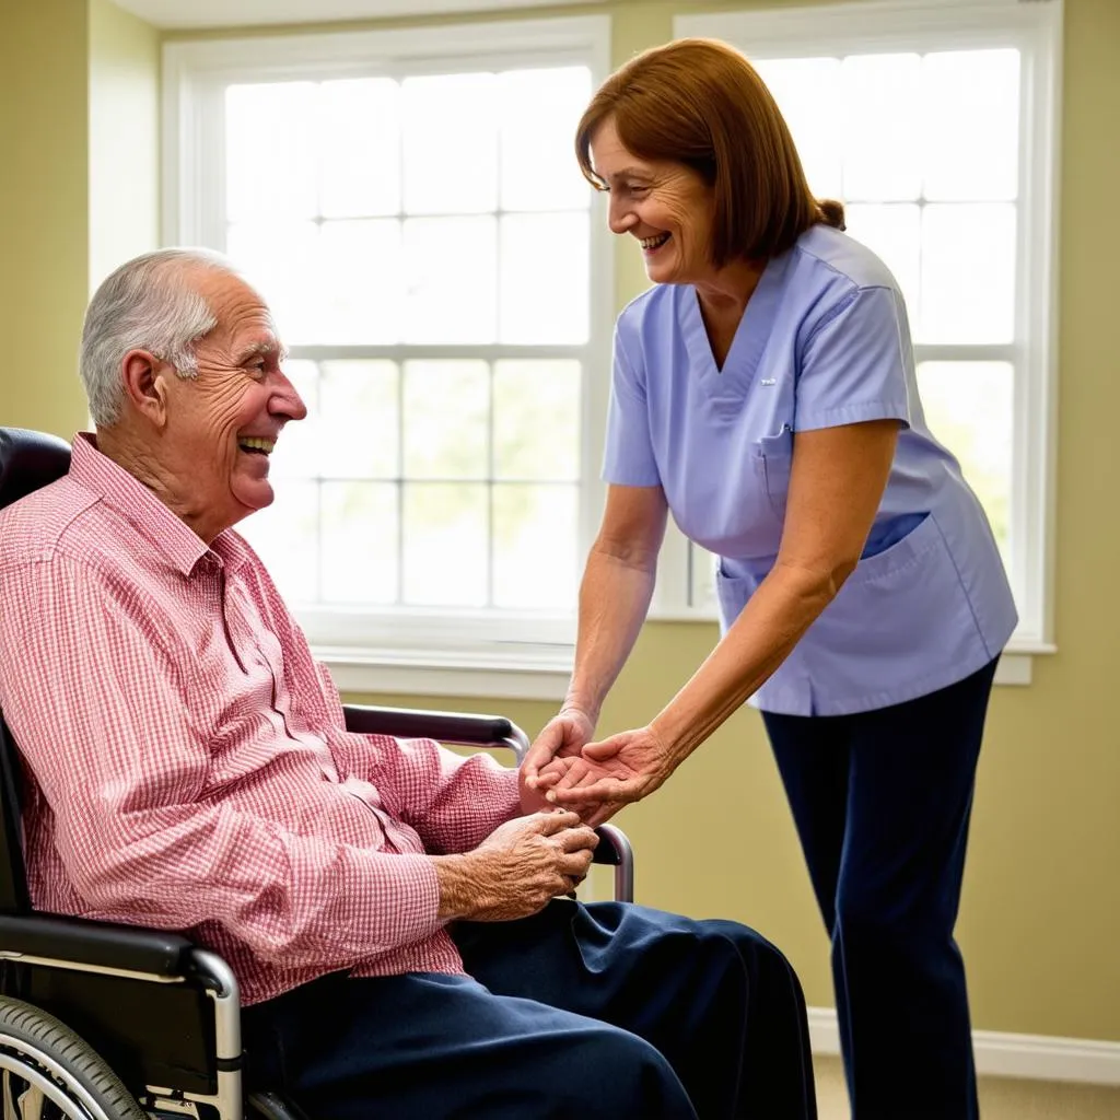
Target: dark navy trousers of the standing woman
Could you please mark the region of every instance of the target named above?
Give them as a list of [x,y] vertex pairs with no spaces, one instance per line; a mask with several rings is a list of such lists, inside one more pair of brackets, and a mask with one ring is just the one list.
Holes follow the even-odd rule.
[[974,1120],[953,926],[996,662],[852,716],[764,712],[832,939],[853,1120]]

